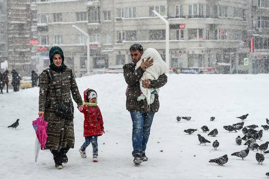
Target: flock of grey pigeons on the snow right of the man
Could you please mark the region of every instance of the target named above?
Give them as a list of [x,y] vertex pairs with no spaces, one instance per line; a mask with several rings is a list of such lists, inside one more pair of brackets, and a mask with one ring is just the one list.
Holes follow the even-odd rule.
[[[244,158],[247,157],[247,155],[249,153],[249,150],[256,150],[257,151],[256,160],[257,160],[257,162],[259,164],[260,163],[262,164],[262,162],[264,161],[264,155],[263,154],[269,153],[269,150],[267,150],[269,142],[267,141],[267,142],[261,144],[260,146],[256,143],[256,140],[262,141],[261,138],[262,138],[263,131],[262,130],[259,130],[259,131],[255,130],[257,127],[259,127],[259,126],[255,125],[255,124],[243,127],[244,126],[244,120],[247,118],[247,116],[248,116],[248,114],[242,115],[240,117],[237,117],[239,119],[242,119],[242,122],[232,124],[232,125],[229,125],[229,126],[223,126],[223,128],[225,130],[229,131],[229,132],[233,132],[233,131],[237,132],[238,130],[242,129],[242,132],[244,134],[244,136],[242,138],[240,136],[237,136],[235,141],[236,141],[237,145],[241,145],[242,140],[244,140],[245,141],[244,145],[247,145],[247,149],[241,150],[239,152],[234,152],[231,155],[240,157],[240,158],[242,158],[242,160],[244,160]],[[185,119],[187,121],[189,121],[191,119],[191,117],[180,117],[180,116],[178,116],[177,121],[180,121],[181,118]],[[210,121],[214,121],[214,119],[215,119],[215,117],[211,117]],[[269,125],[269,120],[267,118],[266,118],[266,123]],[[269,129],[268,125],[262,125],[261,127],[264,130],[268,131],[268,129]],[[209,132],[210,131],[207,126],[202,126],[201,129],[202,129],[203,132]],[[185,129],[184,130],[184,132],[186,132],[188,134],[192,134],[195,131],[198,131],[198,130],[197,129]],[[215,137],[216,135],[218,135],[218,130],[213,129],[207,135]],[[204,143],[204,145],[206,145],[206,143],[211,143],[209,140],[207,140],[206,138],[204,138],[200,134],[197,134],[197,136],[198,136],[198,140],[199,140],[200,144]],[[213,146],[213,148],[215,150],[217,150],[217,148],[219,146],[218,140],[215,140],[213,142],[212,146]],[[258,150],[261,153],[258,153]],[[219,158],[211,159],[209,162],[214,162],[214,163],[217,163],[218,165],[223,166],[225,163],[228,162],[228,156],[223,155],[223,156],[221,156]],[[269,176],[269,172],[266,173],[265,175]]]

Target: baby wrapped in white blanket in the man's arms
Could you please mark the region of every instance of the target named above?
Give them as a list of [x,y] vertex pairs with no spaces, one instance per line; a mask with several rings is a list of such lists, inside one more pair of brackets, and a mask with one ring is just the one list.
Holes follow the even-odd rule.
[[160,75],[166,72],[167,65],[165,61],[161,58],[159,52],[154,48],[148,48],[144,51],[143,55],[141,56],[140,60],[137,62],[135,70],[140,67],[142,60],[146,61],[147,58],[153,59],[153,65],[148,67],[143,76],[140,78],[140,90],[143,94],[141,94],[137,101],[143,100],[146,98],[148,104],[152,104],[155,98],[155,92],[158,94],[160,91],[159,88],[143,88],[142,81],[149,79],[149,80],[157,80]]

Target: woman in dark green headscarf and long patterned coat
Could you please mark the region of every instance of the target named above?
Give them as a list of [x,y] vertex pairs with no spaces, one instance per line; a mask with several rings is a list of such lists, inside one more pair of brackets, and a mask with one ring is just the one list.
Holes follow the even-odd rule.
[[[66,153],[74,148],[74,106],[83,107],[75,76],[64,64],[64,54],[60,47],[52,47],[49,52],[51,65],[39,77],[39,112],[47,126],[45,149],[53,154],[56,169],[67,163]],[[71,92],[70,92],[71,91]]]

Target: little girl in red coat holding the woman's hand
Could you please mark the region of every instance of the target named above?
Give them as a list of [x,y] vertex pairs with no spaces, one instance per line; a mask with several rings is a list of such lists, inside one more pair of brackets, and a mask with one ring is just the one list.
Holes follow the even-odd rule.
[[80,156],[86,158],[86,148],[92,145],[93,162],[98,162],[98,144],[97,136],[104,132],[103,118],[99,107],[97,106],[97,93],[92,89],[84,91],[83,108],[79,108],[80,112],[84,114],[84,134],[85,142],[80,147]]

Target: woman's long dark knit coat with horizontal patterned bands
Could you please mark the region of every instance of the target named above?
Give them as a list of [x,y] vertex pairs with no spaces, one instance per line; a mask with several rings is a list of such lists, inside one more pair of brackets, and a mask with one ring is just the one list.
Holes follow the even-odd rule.
[[[59,150],[65,147],[74,148],[75,138],[73,119],[65,119],[55,115],[56,107],[58,105],[57,98],[61,98],[65,101],[69,100],[72,104],[73,112],[74,106],[71,94],[77,105],[82,105],[82,99],[74,74],[71,72],[71,69],[66,66],[63,67],[61,72],[55,72],[50,68],[46,69],[46,71],[49,73],[44,70],[39,79],[39,111],[44,111],[45,121],[48,122],[48,137],[45,149]],[[55,90],[57,91],[57,98]]]

